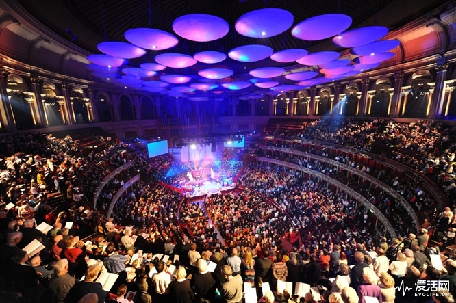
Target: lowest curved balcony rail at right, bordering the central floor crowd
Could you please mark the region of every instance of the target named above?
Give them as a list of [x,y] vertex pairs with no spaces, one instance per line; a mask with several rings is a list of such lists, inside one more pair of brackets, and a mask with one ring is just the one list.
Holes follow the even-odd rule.
[[337,181],[335,179],[332,179],[331,177],[322,174],[320,172],[316,172],[314,170],[309,170],[307,168],[303,168],[303,166],[299,166],[297,164],[292,164],[286,161],[281,161],[281,160],[276,160],[276,159],[270,159],[270,158],[264,158],[264,157],[256,157],[258,161],[266,162],[266,163],[273,163],[279,166],[285,166],[287,168],[292,168],[294,170],[299,170],[300,172],[305,172],[306,174],[311,174],[312,176],[316,176],[318,179],[321,179],[323,181],[326,181],[327,183],[334,185],[335,187],[338,187],[342,192],[346,192],[346,194],[349,194],[353,198],[355,198],[358,202],[360,202],[364,207],[366,207],[369,211],[371,211],[375,217],[377,217],[378,220],[380,220],[381,224],[385,226],[386,230],[390,234],[390,237],[396,238],[396,231],[394,230],[392,224],[388,220],[388,218],[381,213],[377,207],[372,205],[366,198],[364,198],[361,194],[358,194],[355,192],[353,189],[347,187],[344,185],[344,183]]

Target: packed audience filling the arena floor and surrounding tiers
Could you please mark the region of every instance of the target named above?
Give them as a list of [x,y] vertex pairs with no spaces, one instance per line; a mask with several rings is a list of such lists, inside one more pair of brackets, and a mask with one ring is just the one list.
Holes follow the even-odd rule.
[[[371,138],[388,144],[400,141],[405,149],[420,148],[427,162],[433,157],[435,163],[435,157],[443,157],[435,152],[435,144],[446,144],[450,129],[423,125],[348,121],[342,130],[328,123],[328,131],[318,135],[357,148],[368,148]],[[381,127],[388,131],[378,135]],[[309,123],[307,129],[318,127]],[[306,129],[303,136],[317,138]],[[0,162],[0,301],[314,303],[371,302],[375,297],[385,303],[454,302],[456,261],[448,259],[439,268],[424,253],[430,244],[429,220],[419,233],[408,233],[403,211],[391,197],[343,179],[325,163],[283,158],[344,180],[390,213],[405,239],[387,241],[372,213],[344,192],[301,172],[264,163],[244,169],[238,183],[247,189],[194,203],[182,203],[180,192],[142,178],[134,192],[114,206],[114,218],[105,220],[103,213],[82,205],[75,179],[107,153],[86,155],[71,137],[23,135],[7,140],[9,156]],[[118,147],[117,142],[105,143],[106,150]],[[135,170],[170,167],[169,159],[134,157]],[[116,159],[94,169],[94,179],[104,178],[126,160]],[[115,179],[116,186],[107,191],[112,194],[123,181]],[[403,182],[394,185],[398,191],[402,186]],[[66,193],[71,206],[57,218],[47,205],[52,192]],[[442,239],[455,237],[449,229],[453,217],[450,209],[440,215],[435,230]],[[36,229],[42,222],[53,228]],[[64,227],[66,222],[74,222],[74,227]],[[90,233],[94,235],[84,239]],[[299,242],[292,241],[294,233],[300,235]],[[29,244],[39,248],[25,252]],[[389,252],[394,258],[388,259]],[[442,281],[448,281],[447,291],[415,287]],[[296,283],[317,288],[303,291]],[[396,289],[399,285],[411,291]]]

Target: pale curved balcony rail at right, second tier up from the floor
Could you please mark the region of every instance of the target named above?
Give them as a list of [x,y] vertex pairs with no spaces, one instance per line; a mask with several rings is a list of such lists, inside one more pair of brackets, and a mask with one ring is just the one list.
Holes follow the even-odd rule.
[[338,168],[342,168],[344,170],[352,172],[353,174],[356,174],[357,176],[361,176],[363,179],[368,180],[370,183],[373,183],[373,184],[377,185],[377,187],[381,187],[381,189],[385,190],[385,192],[388,192],[388,194],[390,194],[396,201],[401,203],[401,205],[405,208],[407,213],[410,215],[411,219],[414,221],[414,224],[416,226],[416,230],[418,230],[420,228],[420,221],[418,220],[418,216],[416,215],[416,211],[411,207],[411,205],[409,205],[409,202],[407,202],[407,200],[405,200],[405,198],[403,196],[401,196],[401,194],[398,194],[398,192],[396,192],[396,190],[394,190],[394,188],[390,187],[390,185],[387,185],[386,183],[383,183],[379,179],[375,178],[374,176],[371,176],[370,174],[368,174],[366,172],[363,172],[362,170],[357,170],[356,168],[352,168],[349,165],[346,165],[344,163],[340,163],[340,162],[335,161],[333,159],[328,159],[326,157],[321,157],[321,156],[314,155],[314,154],[311,154],[311,153],[305,153],[305,152],[302,152],[302,151],[299,151],[299,150],[292,150],[292,149],[288,149],[288,148],[281,148],[281,147],[275,147],[275,146],[266,146],[266,145],[259,145],[259,148],[268,149],[268,150],[275,150],[275,151],[279,151],[281,153],[288,153],[288,154],[292,154],[292,155],[300,155],[300,156],[304,156],[304,157],[309,157],[309,158],[312,158],[312,159],[316,159],[318,161],[329,163],[332,166],[337,166]]

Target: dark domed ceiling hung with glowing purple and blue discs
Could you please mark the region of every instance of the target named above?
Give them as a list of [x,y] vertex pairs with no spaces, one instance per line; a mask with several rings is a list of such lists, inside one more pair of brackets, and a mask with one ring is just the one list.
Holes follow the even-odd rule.
[[[389,51],[398,41],[381,41],[409,21],[395,16],[377,24],[378,12],[392,0],[59,1],[64,14],[97,34],[94,40],[71,24],[51,22],[33,1],[19,2],[50,29],[92,51],[88,69],[99,80],[144,91],[160,81],[170,85],[153,90],[181,96],[208,94],[216,85],[225,91],[274,91],[270,83],[299,89],[362,73],[394,55]],[[340,57],[347,49],[353,56]],[[192,86],[197,83],[212,85]],[[179,85],[192,89],[173,90]]]

